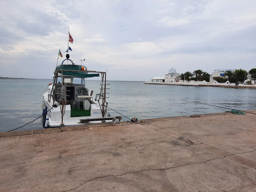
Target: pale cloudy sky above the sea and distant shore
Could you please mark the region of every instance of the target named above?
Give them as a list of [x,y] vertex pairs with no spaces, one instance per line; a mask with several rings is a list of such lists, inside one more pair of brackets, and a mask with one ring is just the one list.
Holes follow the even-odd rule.
[[50,79],[59,49],[108,80],[256,68],[255,0],[0,1],[0,76]]

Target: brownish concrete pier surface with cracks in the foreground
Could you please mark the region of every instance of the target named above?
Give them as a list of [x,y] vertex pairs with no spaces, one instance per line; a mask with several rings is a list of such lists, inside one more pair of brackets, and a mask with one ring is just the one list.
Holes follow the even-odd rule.
[[0,133],[0,191],[254,192],[255,114]]

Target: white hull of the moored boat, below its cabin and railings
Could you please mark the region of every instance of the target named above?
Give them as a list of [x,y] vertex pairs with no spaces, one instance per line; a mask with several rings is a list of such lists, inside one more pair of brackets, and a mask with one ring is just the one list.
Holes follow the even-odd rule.
[[[43,94],[44,105],[47,107],[47,111],[52,108],[53,101],[51,98],[51,102],[48,101],[48,92]],[[66,127],[66,126],[78,126],[78,125],[86,125],[86,124],[94,124],[94,123],[102,123],[101,121],[90,121],[88,123],[80,123],[80,119],[92,119],[92,118],[101,118],[101,110],[99,103],[91,99],[91,116],[81,116],[81,117],[71,117],[71,106],[66,105],[65,114],[63,116],[63,123],[61,125],[61,111],[60,106],[52,108],[47,112],[46,118],[49,118],[49,126],[50,127]],[[54,104],[59,104],[56,101]],[[106,122],[112,122],[111,120]]]

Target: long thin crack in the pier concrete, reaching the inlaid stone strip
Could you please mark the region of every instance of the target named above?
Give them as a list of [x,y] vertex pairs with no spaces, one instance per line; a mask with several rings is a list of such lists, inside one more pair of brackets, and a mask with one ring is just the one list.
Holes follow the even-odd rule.
[[[212,161],[212,160],[215,160],[215,159],[223,159],[223,158],[225,158],[225,157],[218,157],[218,158],[214,158],[214,159],[209,159],[209,160],[204,161],[204,162],[198,162],[198,163],[191,163],[191,164],[179,165],[179,166],[169,167],[169,168],[165,168],[165,169],[164,169],[164,168],[163,168],[163,169],[147,169],[147,170],[141,170],[141,171],[136,171],[136,172],[127,172],[127,173],[120,174],[120,175],[105,175],[105,176],[102,176],[102,177],[96,177],[96,178],[93,178],[93,179],[91,179],[91,180],[84,181],[84,183],[86,183],[86,182],[88,182],[88,181],[93,181],[93,180],[96,180],[96,179],[101,179],[101,178],[104,178],[104,177],[110,177],[110,176],[113,176],[113,177],[116,177],[116,176],[123,176],[123,175],[126,175],[126,174],[134,174],[134,173],[144,172],[144,171],[165,171],[165,170],[169,170],[169,169],[172,169],[172,168],[183,167],[183,166],[186,166],[186,165],[204,164],[204,163],[207,163],[207,162]],[[77,186],[77,187],[74,188],[74,189],[69,189],[69,190],[61,191],[61,192],[67,192],[67,191],[75,190],[75,189],[79,188],[80,186],[84,185],[84,183],[82,183],[81,185]]]

